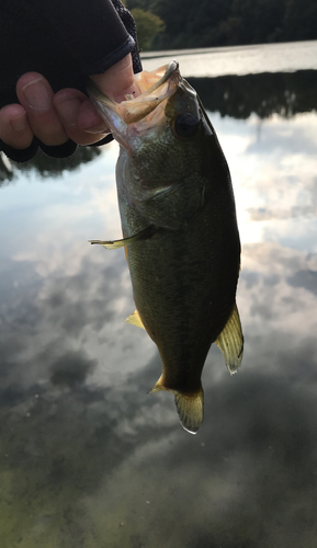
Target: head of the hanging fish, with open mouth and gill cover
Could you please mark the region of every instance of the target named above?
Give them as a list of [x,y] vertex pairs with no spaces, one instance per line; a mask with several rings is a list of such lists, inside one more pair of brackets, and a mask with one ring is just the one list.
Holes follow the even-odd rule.
[[[179,65],[135,76],[140,95],[115,103],[94,84],[89,95],[121,145],[121,185],[140,214],[178,229],[202,206],[217,139],[195,90]],[[220,151],[222,155],[222,151]],[[224,157],[220,163],[226,164]]]

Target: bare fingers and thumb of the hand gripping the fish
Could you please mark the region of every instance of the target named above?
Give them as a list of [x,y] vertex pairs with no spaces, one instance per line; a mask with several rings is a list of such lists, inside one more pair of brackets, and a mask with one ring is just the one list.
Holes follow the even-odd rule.
[[[103,75],[90,78],[116,102],[123,101],[126,93],[139,95],[131,55]],[[16,94],[20,104],[0,110],[0,138],[12,148],[27,148],[34,136],[47,146],[63,145],[69,138],[78,145],[91,145],[110,133],[87,95],[75,89],[54,94],[38,72],[23,75],[16,82]]]

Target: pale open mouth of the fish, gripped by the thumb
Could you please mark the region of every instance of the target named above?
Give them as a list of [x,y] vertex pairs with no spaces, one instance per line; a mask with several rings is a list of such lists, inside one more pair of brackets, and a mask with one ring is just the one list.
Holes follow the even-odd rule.
[[[126,101],[115,103],[104,95],[91,81],[88,94],[100,114],[110,122],[110,112],[116,114],[124,124],[135,124],[150,114],[162,101],[174,94],[180,81],[179,64],[172,60],[152,71],[144,70],[135,75],[135,81],[141,94],[137,98],[126,95]],[[110,123],[110,126],[112,124]]]

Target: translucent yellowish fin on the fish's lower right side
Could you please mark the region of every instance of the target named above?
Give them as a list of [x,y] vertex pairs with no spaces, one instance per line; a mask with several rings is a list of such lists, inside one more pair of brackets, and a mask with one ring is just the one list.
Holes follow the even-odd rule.
[[215,340],[215,343],[223,353],[229,373],[231,375],[237,373],[244,354],[244,335],[236,302],[226,326]]

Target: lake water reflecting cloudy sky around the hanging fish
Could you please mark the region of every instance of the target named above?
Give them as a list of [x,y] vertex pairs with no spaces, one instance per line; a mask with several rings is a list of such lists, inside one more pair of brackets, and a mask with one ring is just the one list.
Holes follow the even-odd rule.
[[316,49],[171,53],[228,160],[242,242],[245,356],[230,377],[212,346],[196,436],[147,393],[161,363],[123,322],[124,252],[88,244],[121,235],[116,145],[0,165],[2,548],[316,545]]

